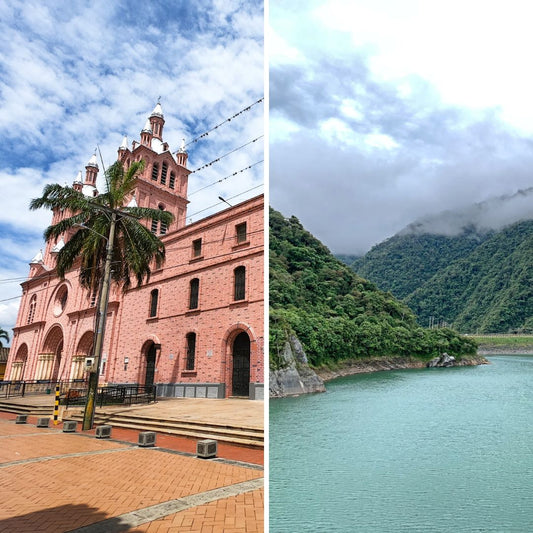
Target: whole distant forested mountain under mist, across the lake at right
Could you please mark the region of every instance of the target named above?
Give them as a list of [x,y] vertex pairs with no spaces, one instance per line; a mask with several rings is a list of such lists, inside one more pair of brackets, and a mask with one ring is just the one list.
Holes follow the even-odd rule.
[[479,236],[397,235],[353,264],[402,298],[420,324],[462,332],[533,331],[533,221]]

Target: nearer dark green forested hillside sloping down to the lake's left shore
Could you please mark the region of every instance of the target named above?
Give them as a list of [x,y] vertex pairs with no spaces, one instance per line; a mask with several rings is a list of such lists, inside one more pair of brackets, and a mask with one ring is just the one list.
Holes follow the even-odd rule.
[[270,360],[279,365],[294,332],[312,365],[360,356],[430,358],[475,353],[449,329],[427,330],[390,293],[357,276],[307,232],[297,218],[270,211]]

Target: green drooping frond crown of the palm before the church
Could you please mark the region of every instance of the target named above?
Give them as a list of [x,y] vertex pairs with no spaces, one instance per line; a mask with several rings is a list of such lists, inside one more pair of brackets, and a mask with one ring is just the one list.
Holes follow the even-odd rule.
[[40,198],[30,203],[30,209],[46,207],[67,212],[57,224],[44,232],[47,242],[55,242],[66,232],[76,232],[57,254],[57,274],[64,278],[76,261],[80,260],[80,283],[96,291],[103,275],[106,260],[107,235],[115,213],[115,236],[112,250],[111,279],[126,290],[132,278],[137,285],[150,278],[150,266],[155,261],[160,267],[165,259],[165,246],[141,221],[161,221],[167,226],[174,217],[168,211],[147,207],[125,206],[131,198],[144,161],[136,161],[125,170],[117,161],[105,173],[106,191],[96,197],[87,197],[73,187],[47,185]]

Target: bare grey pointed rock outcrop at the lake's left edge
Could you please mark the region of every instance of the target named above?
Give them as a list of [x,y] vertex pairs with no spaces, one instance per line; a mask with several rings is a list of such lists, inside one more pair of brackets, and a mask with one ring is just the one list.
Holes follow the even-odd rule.
[[269,389],[271,398],[326,391],[324,382],[309,368],[307,356],[294,335],[285,343],[280,368],[270,370]]

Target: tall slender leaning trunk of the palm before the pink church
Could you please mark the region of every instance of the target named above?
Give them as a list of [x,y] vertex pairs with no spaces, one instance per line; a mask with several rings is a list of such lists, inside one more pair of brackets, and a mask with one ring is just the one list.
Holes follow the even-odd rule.
[[111,213],[111,226],[109,228],[109,237],[107,239],[107,254],[104,266],[104,276],[102,280],[102,290],[100,294],[100,304],[98,306],[98,324],[96,328],[96,340],[94,343],[94,363],[95,371],[89,374],[89,384],[87,390],[87,403],[83,414],[82,429],[92,429],[94,423],[95,397],[98,389],[98,377],[100,375],[100,360],[102,358],[102,349],[104,346],[105,325],[107,320],[107,304],[109,302],[109,285],[111,278],[111,261],[113,259],[113,243],[115,240],[115,224],[117,215]]

